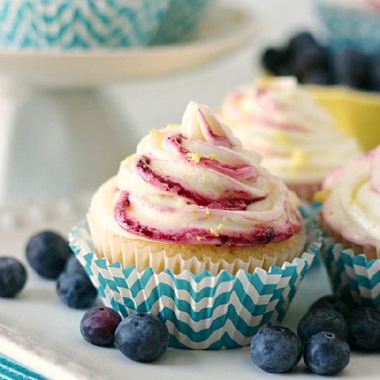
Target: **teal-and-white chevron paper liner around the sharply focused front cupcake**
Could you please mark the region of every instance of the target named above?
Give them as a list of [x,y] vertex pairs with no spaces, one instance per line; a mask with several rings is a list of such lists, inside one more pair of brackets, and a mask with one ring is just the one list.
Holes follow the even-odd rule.
[[170,345],[209,350],[248,345],[261,326],[280,322],[321,247],[314,242],[301,258],[269,272],[240,270],[234,276],[222,271],[212,276],[205,271],[196,276],[109,265],[93,253],[86,222],[71,231],[69,240],[106,305],[124,316],[158,315],[167,324]]

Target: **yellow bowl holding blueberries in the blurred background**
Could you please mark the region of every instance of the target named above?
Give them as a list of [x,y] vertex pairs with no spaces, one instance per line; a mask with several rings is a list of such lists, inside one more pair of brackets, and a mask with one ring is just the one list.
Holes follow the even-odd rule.
[[341,86],[308,88],[334,117],[339,129],[356,136],[365,151],[380,144],[380,95]]

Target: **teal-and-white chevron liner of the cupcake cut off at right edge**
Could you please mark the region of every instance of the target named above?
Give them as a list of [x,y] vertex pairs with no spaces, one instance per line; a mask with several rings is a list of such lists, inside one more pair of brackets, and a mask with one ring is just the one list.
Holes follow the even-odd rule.
[[352,249],[325,238],[321,254],[336,294],[364,306],[380,306],[380,260],[365,260]]

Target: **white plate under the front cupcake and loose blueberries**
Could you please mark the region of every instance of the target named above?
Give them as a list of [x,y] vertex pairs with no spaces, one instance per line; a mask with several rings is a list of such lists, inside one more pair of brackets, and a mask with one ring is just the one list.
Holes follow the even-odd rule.
[[[89,197],[46,201],[30,207],[0,210],[0,255],[23,259],[30,234],[42,228],[66,234],[78,218],[83,218]],[[86,343],[79,332],[83,310],[61,304],[53,281],[38,278],[28,268],[28,283],[15,299],[0,298],[0,354],[28,366],[48,379],[274,379],[251,361],[249,348],[194,351],[169,348],[155,363],[133,362],[116,348],[100,348]],[[307,273],[294,298],[284,325],[296,330],[307,307],[330,292],[322,266]],[[352,354],[341,379],[379,379],[379,354]],[[303,361],[281,379],[317,379]],[[1,374],[0,374],[1,378]]]

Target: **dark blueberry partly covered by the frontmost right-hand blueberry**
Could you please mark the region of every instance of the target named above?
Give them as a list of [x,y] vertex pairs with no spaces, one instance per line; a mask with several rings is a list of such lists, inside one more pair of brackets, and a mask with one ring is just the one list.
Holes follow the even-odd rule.
[[303,344],[310,336],[321,332],[334,332],[340,339],[347,341],[348,326],[341,313],[331,309],[314,309],[307,312],[298,323],[298,336]]

